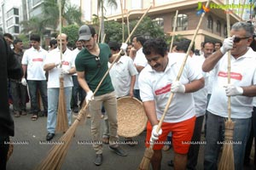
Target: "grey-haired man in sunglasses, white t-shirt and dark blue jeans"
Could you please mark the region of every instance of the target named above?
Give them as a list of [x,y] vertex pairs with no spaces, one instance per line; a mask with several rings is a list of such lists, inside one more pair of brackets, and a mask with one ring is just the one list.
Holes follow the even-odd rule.
[[[243,168],[248,132],[251,128],[253,96],[256,96],[255,55],[250,44],[254,27],[250,23],[236,22],[223,46],[207,57],[203,71],[214,69],[212,96],[207,107],[207,144],[205,145],[205,169],[218,168],[218,155],[224,140],[224,122],[228,117],[230,96],[233,130],[235,169]],[[230,51],[230,84],[228,84],[228,51]]]

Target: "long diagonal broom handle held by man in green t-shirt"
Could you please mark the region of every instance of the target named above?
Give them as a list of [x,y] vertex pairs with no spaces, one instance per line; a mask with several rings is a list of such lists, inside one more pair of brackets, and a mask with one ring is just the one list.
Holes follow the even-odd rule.
[[[127,43],[127,42],[129,41],[129,39],[131,38],[131,36],[132,36],[132,34],[134,33],[134,31],[136,31],[137,26],[139,26],[139,24],[142,22],[144,16],[145,16],[146,14],[148,14],[148,11],[149,11],[150,8],[151,8],[151,6],[150,6],[150,7],[147,9],[147,11],[143,14],[142,18],[137,22],[137,25],[133,28],[133,30],[131,31],[131,34],[129,35],[129,37],[127,37],[125,43]],[[117,56],[119,56],[119,55],[121,54],[121,52],[122,52],[122,50],[119,51],[119,53],[117,54]],[[115,59],[113,59],[112,64],[109,66],[108,71],[106,71],[106,73],[105,73],[104,76],[102,77],[102,80],[101,80],[101,82],[99,82],[99,84],[98,84],[98,86],[96,87],[96,89],[95,89],[93,95],[95,95],[96,92],[98,91],[98,89],[101,87],[102,82],[103,82],[104,79],[108,76],[108,72],[109,72],[110,69],[113,67],[113,64],[115,63],[115,61],[116,61],[118,58],[119,58],[119,57],[116,57]],[[83,107],[83,109],[82,109],[83,111],[86,111],[86,109],[87,109],[89,103],[90,103],[90,102],[88,102],[88,103],[86,103],[86,105],[84,105],[84,107]],[[77,117],[77,120],[80,121],[81,119],[82,119],[82,114],[79,114],[79,116]]]

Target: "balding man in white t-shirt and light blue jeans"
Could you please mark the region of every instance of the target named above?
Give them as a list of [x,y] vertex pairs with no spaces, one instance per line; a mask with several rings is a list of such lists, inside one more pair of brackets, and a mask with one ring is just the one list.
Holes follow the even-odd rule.
[[[57,37],[58,48],[50,51],[47,55],[44,71],[49,71],[48,78],[48,117],[47,117],[47,136],[46,140],[51,140],[55,136],[55,127],[58,111],[58,101],[60,92],[60,77],[64,77],[64,93],[66,99],[66,111],[68,125],[71,125],[70,100],[72,96],[72,74],[75,72],[73,65],[72,51],[67,48],[68,38],[66,34]],[[60,52],[60,43],[62,43],[62,60]],[[62,65],[60,67],[60,65]]]

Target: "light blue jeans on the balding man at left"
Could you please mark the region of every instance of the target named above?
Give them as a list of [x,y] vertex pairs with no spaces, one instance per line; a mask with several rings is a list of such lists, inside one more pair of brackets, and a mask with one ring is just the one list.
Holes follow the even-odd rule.
[[[47,116],[47,131],[48,133],[55,133],[56,121],[57,121],[57,111],[58,111],[58,101],[59,101],[59,91],[60,88],[48,88],[48,116]],[[72,93],[72,87],[64,88],[65,99],[66,99],[66,111],[68,125],[71,125],[71,108],[70,99]]]

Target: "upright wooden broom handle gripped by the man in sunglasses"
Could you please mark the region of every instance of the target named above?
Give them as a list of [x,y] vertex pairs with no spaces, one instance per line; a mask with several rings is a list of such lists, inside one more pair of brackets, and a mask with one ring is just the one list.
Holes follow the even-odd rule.
[[[226,4],[228,4],[229,1],[226,0]],[[226,18],[227,18],[227,35],[230,37],[230,11],[229,9],[226,11]],[[230,64],[230,51],[228,51],[228,84],[230,84],[230,70],[231,70],[231,64]],[[231,99],[230,96],[228,96],[228,121],[231,121]]]

